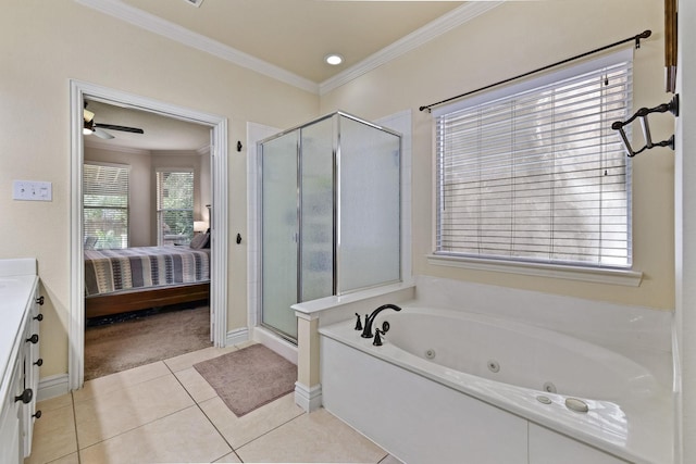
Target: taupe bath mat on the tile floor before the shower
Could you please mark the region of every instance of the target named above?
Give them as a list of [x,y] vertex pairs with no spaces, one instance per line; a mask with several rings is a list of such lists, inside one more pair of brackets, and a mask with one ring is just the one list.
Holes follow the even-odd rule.
[[194,367],[237,417],[293,390],[297,366],[263,344],[252,344]]

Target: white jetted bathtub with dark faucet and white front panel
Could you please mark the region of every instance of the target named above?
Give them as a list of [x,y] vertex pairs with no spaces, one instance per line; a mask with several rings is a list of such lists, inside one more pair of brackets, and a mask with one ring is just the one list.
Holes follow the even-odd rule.
[[[320,328],[322,402],[406,463],[673,463],[671,386],[568,335],[402,305]],[[368,309],[365,312],[370,312]]]

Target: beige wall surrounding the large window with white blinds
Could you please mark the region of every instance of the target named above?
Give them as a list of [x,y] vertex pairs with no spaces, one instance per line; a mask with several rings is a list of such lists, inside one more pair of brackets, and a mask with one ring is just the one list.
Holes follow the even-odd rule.
[[[633,161],[634,267],[644,272],[638,288],[434,266],[425,259],[433,251],[432,117],[418,110],[645,29],[652,37],[635,52],[634,110],[667,102],[662,5],[662,0],[507,2],[322,97],[321,113],[340,109],[375,120],[412,110],[415,274],[674,308],[671,150],[654,149]],[[651,121],[656,141],[673,134],[673,117],[664,116]]]

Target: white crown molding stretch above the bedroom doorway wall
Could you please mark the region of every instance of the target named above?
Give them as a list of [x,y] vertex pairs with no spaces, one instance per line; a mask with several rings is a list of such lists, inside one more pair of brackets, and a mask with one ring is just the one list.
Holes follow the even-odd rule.
[[177,24],[170,23],[159,16],[130,7],[120,0],[75,0],[77,3],[97,10],[101,13],[125,21],[160,36],[175,40],[185,46],[204,51],[239,66],[256,71],[285,84],[319,92],[319,85],[295,73],[283,70],[269,62],[260,60],[233,47],[213,40],[198,33],[194,33]]

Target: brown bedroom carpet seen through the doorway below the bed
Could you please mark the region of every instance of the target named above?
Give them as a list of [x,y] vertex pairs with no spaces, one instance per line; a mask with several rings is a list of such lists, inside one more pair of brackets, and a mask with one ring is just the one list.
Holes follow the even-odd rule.
[[124,315],[85,328],[85,380],[208,347],[208,306]]

